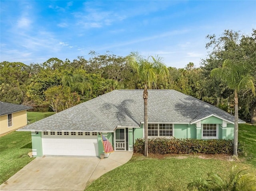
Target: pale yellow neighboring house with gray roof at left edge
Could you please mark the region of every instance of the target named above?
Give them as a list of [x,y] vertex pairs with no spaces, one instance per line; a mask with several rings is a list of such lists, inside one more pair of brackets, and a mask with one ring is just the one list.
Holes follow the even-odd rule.
[[27,125],[27,110],[32,107],[0,102],[0,135]]

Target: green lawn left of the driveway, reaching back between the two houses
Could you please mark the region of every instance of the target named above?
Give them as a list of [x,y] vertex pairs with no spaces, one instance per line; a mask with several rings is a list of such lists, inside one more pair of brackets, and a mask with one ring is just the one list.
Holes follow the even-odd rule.
[[[28,112],[27,114],[31,124],[54,112]],[[28,152],[31,151],[31,132],[13,131],[0,137],[0,184],[34,159],[28,156]]]

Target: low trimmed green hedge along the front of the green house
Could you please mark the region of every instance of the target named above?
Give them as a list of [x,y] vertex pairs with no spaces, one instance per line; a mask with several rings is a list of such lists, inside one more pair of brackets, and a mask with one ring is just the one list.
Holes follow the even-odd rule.
[[[137,139],[134,144],[134,152],[144,154],[144,139]],[[153,154],[231,154],[233,153],[233,140],[212,139],[148,139],[148,153]],[[238,154],[245,154],[244,143],[238,142]]]

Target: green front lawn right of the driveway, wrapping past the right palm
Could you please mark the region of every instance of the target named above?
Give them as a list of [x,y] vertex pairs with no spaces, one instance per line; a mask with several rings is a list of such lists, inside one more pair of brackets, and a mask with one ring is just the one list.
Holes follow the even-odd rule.
[[245,142],[247,149],[247,156],[240,157],[240,161],[193,156],[156,159],[136,155],[128,163],[102,175],[86,191],[186,191],[188,183],[196,178],[206,179],[210,172],[227,178],[232,165],[247,167],[249,173],[256,174],[256,126],[239,125],[239,140]]

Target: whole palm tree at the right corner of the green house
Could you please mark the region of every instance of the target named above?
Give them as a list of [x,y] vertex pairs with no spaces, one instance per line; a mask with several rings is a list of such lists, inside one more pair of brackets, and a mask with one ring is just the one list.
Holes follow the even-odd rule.
[[241,89],[252,89],[255,93],[254,78],[249,75],[248,66],[233,63],[226,59],[222,68],[215,68],[210,73],[211,77],[224,81],[227,87],[234,91],[235,118],[234,118],[234,156],[237,154],[238,146],[238,93]]

